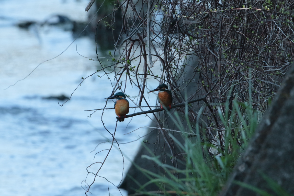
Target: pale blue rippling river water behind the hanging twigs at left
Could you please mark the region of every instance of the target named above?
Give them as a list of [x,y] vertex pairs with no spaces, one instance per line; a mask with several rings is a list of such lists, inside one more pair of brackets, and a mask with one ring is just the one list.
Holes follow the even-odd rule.
[[[103,161],[106,151],[98,152],[110,148],[106,141],[111,140],[111,135],[103,128],[102,110],[91,118],[87,118],[91,111],[83,111],[104,107],[104,98],[110,96],[112,90],[106,77],[99,78],[98,73],[85,80],[62,107],[58,102],[64,101],[44,99],[61,94],[70,96],[81,77],[98,69],[97,61],[89,60],[96,56],[93,38],[78,38],[66,49],[74,40],[71,31],[38,25],[53,14],[86,21],[84,9],[88,1],[0,0],[1,196],[84,195],[82,181],[87,176],[86,167]],[[37,24],[21,29],[16,25],[21,21],[36,21]],[[49,60],[51,58],[54,59]],[[135,95],[137,89],[127,89],[127,92]],[[113,107],[113,102],[108,101],[106,107]],[[130,109],[130,113],[134,111]],[[113,133],[116,122],[113,110],[104,111],[103,122]],[[133,158],[142,141],[137,139],[146,131],[145,128],[136,129],[149,122],[149,118],[137,116],[131,122],[126,119],[118,123],[116,140],[127,143],[120,145],[124,165],[116,145],[99,172],[100,176],[116,186],[119,184],[123,167],[126,172],[130,165],[128,158]],[[132,130],[136,131],[129,133]],[[124,135],[126,133],[129,134]],[[92,166],[91,171],[95,172],[97,166]],[[86,182],[91,183],[91,176]],[[126,195],[99,177],[90,191],[93,195],[103,196],[109,195],[108,188],[110,195]]]

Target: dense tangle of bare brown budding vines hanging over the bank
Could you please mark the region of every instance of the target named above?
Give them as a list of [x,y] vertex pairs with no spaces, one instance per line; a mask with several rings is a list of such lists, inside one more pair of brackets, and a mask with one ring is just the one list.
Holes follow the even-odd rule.
[[[122,27],[113,29],[119,35],[114,53],[110,54],[111,71],[102,67],[104,77],[115,73],[113,93],[124,92],[128,85],[137,86],[137,106],[149,104],[144,92],[148,91],[148,81],[154,78],[158,84],[169,86],[173,104],[203,98],[191,103],[204,107],[201,126],[206,133],[202,140],[214,134],[208,140],[217,140],[221,152],[226,123],[220,120],[219,111],[228,116],[235,114],[232,108],[236,100],[250,101],[249,105],[263,112],[293,61],[293,10],[291,0],[119,1],[114,12],[121,12],[121,21],[114,12],[108,18],[113,16],[112,23],[121,22]],[[111,22],[107,25],[112,28]],[[103,59],[97,57],[105,66]],[[191,59],[196,60],[187,63]],[[187,70],[193,73],[194,80],[187,81]],[[198,85],[185,98],[183,91],[189,83]],[[242,115],[245,107],[238,107]],[[177,111],[185,113],[184,107]],[[190,122],[196,121],[197,112],[189,111]],[[232,127],[240,125],[235,120],[229,122],[237,123]],[[244,122],[242,126],[246,126]],[[210,132],[212,129],[218,131]],[[240,133],[234,134],[241,145]]]

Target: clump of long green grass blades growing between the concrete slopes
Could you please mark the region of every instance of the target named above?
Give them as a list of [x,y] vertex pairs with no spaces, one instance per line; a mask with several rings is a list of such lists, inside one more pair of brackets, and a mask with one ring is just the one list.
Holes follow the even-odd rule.
[[[143,170],[151,180],[143,185],[142,189],[150,183],[156,183],[159,187],[156,192],[145,192],[144,194],[179,196],[219,194],[262,116],[260,111],[253,109],[251,102],[240,103],[234,100],[231,110],[228,109],[228,102],[225,104],[225,112],[218,108],[223,129],[215,130],[214,142],[209,139],[210,136],[206,134],[205,128],[198,125],[201,119],[197,119],[196,126],[188,123],[191,130],[192,127],[196,127],[195,131],[189,134],[184,131],[178,115],[175,115],[173,120],[179,130],[183,131],[184,142],[180,142],[172,134],[169,136],[182,151],[182,158],[177,158],[175,165],[184,164],[185,169],[164,164],[159,157],[144,156],[163,169],[162,174]],[[187,120],[188,115],[186,117]]]

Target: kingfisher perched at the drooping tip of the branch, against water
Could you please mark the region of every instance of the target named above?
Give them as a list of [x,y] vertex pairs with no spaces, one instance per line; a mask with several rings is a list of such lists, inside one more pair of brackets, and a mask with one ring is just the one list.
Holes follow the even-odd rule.
[[[114,103],[115,113],[119,117],[119,122],[124,121],[130,108],[128,100],[126,100],[126,95],[123,92],[118,92],[115,93],[114,96],[110,96],[105,99],[116,99],[116,102]],[[124,117],[122,118],[122,116]]]

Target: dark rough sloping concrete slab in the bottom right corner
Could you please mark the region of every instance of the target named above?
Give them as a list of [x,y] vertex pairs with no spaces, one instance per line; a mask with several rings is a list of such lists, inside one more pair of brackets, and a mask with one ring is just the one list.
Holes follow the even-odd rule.
[[271,186],[260,173],[274,180],[288,193],[294,194],[293,64],[220,196],[259,195],[234,181],[241,181],[273,194]]

